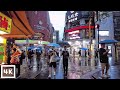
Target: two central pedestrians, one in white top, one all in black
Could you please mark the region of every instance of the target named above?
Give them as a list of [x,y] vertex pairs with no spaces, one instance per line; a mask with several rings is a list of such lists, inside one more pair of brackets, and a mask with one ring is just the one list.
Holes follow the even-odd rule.
[[56,76],[56,68],[57,68],[57,58],[60,59],[60,56],[63,56],[63,71],[64,71],[64,76],[67,77],[67,72],[68,72],[68,58],[69,58],[69,52],[67,51],[67,47],[64,46],[64,50],[61,52],[59,56],[59,52],[56,51],[54,48],[49,51],[49,76],[48,78],[51,79],[52,77],[52,67],[54,68],[53,75],[54,77]]

